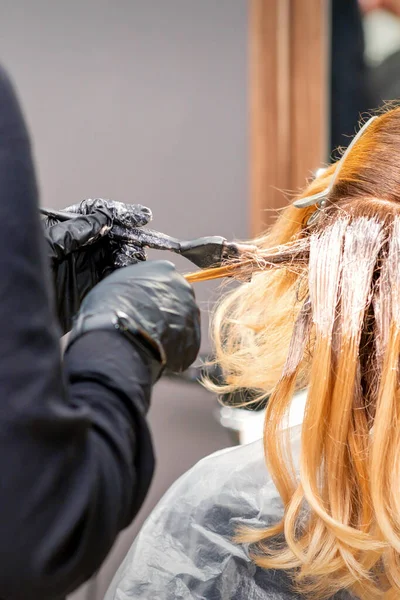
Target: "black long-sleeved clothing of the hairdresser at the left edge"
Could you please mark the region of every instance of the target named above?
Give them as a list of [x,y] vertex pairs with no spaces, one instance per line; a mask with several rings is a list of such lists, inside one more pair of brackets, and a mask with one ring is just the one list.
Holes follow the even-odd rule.
[[64,365],[28,134],[0,71],[0,598],[63,597],[145,496],[150,368],[117,332]]

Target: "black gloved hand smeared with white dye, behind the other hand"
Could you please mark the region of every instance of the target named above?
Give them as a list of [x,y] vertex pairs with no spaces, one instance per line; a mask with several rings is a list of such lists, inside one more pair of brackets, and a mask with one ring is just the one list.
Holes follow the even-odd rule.
[[63,333],[71,329],[83,298],[99,281],[121,266],[146,259],[143,248],[113,234],[114,224],[139,227],[151,219],[146,207],[102,199],[84,200],[65,210],[78,216],[43,221]]

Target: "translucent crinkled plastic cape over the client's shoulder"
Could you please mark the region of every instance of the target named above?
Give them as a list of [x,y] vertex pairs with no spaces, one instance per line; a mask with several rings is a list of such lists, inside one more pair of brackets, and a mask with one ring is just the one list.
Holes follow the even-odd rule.
[[[298,456],[300,427],[291,429]],[[296,451],[297,450],[297,451]],[[251,562],[232,542],[239,525],[282,517],[262,442],[217,452],[178,479],[154,509],[105,600],[294,600],[282,571]],[[334,596],[348,600],[347,593]]]

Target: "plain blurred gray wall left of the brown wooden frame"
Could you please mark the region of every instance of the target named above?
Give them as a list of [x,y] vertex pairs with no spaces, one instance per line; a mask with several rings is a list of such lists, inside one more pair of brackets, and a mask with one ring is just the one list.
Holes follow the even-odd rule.
[[[0,9],[1,57],[29,121],[43,204],[142,202],[171,235],[246,237],[246,0],[0,0]],[[206,312],[214,288],[196,290]],[[152,491],[86,597],[102,596],[170,483],[229,443],[215,408],[201,389],[158,385]]]

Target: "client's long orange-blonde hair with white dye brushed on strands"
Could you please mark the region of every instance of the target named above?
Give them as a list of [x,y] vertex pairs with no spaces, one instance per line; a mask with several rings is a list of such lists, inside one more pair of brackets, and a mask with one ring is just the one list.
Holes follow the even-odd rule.
[[[327,188],[337,164],[300,198]],[[289,206],[255,241],[257,256],[214,271],[245,282],[214,315],[225,384],[213,389],[271,394],[265,456],[284,516],[240,533],[255,562],[291,570],[318,599],[344,588],[399,598],[400,109],[339,164],[322,208]],[[296,467],[285,424],[305,385]]]

